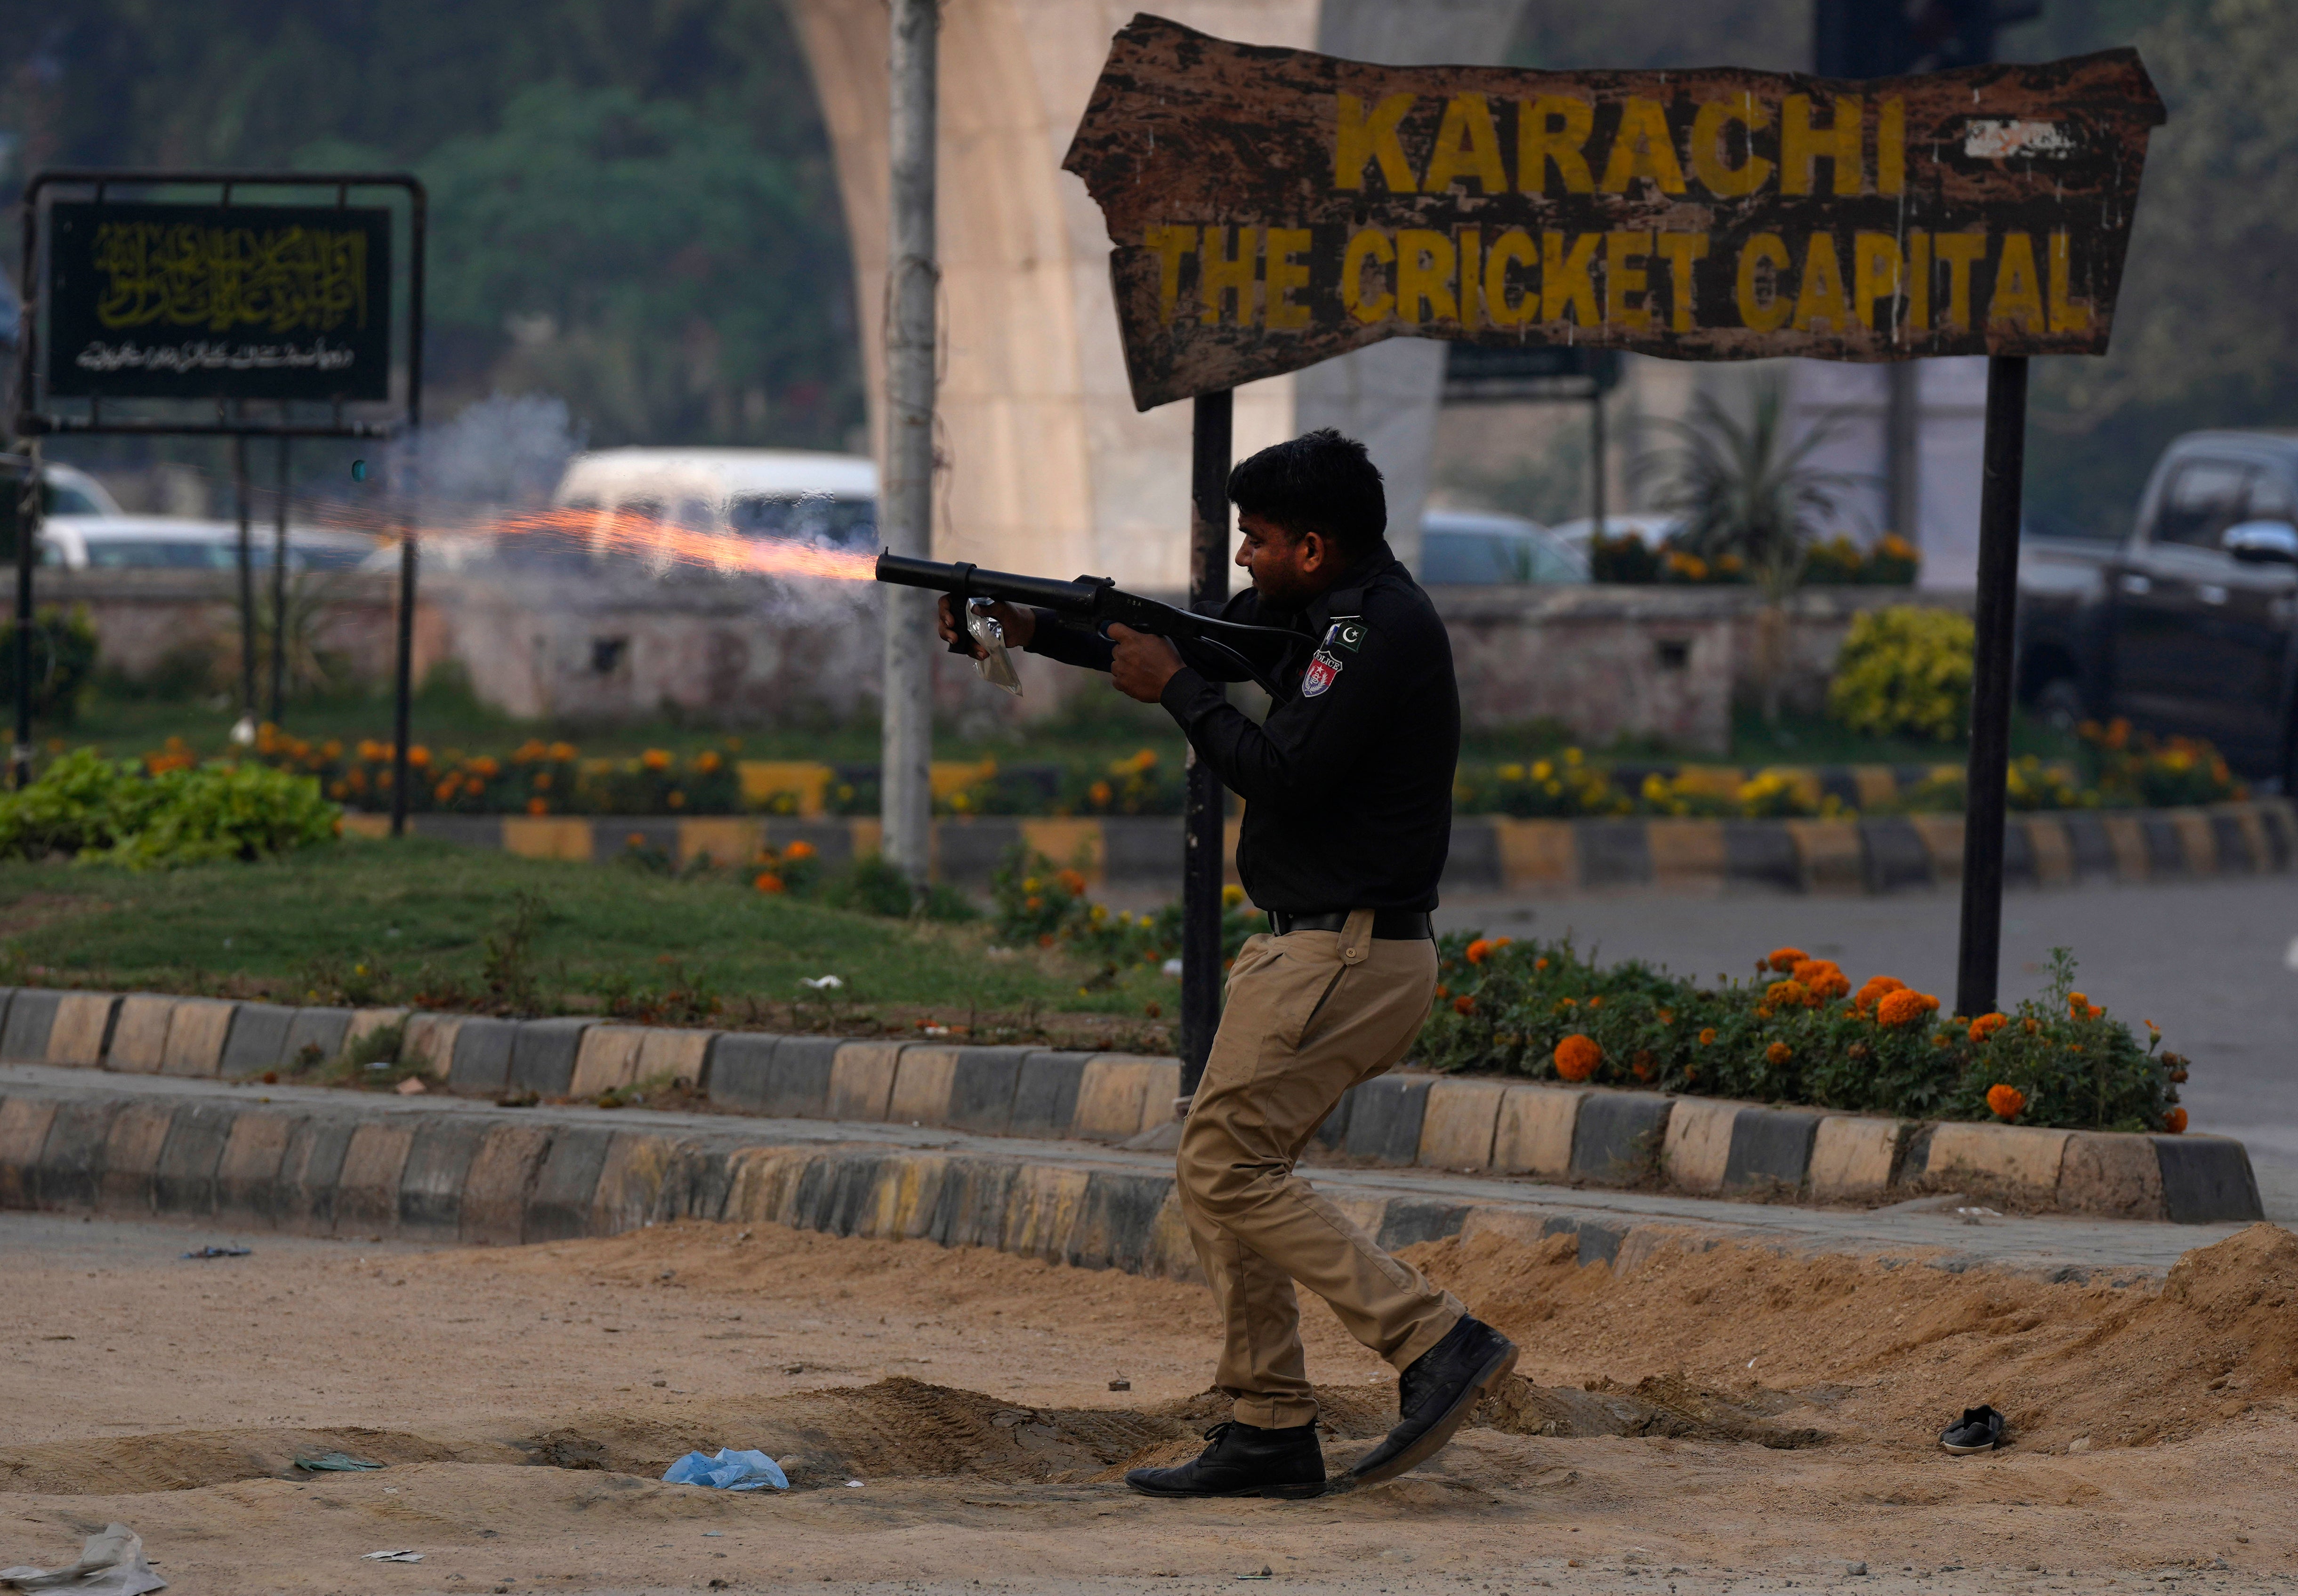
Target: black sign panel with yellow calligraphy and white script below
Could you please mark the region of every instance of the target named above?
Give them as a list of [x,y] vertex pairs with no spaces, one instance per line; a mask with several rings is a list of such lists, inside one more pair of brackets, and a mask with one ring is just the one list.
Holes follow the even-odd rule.
[[51,397],[391,397],[391,211],[60,200],[48,216]]

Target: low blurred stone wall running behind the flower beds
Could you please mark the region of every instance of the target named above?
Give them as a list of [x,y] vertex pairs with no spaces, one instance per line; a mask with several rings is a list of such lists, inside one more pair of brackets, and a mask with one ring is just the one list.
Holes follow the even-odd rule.
[[[324,579],[324,650],[388,682],[395,579]],[[483,703],[554,721],[634,721],[673,710],[726,726],[816,726],[878,698],[878,595],[834,581],[650,581],[434,570],[416,613],[416,677],[453,661]],[[1746,588],[1436,588],[1452,632],[1462,719],[1478,730],[1553,721],[1593,746],[1730,749],[1730,707],[1758,691],[1760,602]],[[228,572],[41,572],[41,604],[85,604],[103,661],[149,677],[205,648],[218,684],[239,657]],[[1884,604],[1969,606],[1969,595],[1813,588],[1788,613],[1786,698],[1818,710],[1854,615]],[[1030,721],[1098,680],[1020,659],[1025,696],[933,654],[935,700],[970,730]]]

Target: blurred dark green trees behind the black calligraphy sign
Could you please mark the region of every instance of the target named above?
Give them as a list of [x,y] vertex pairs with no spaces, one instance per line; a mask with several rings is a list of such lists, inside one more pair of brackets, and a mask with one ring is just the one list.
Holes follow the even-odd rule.
[[434,413],[558,393],[600,443],[841,446],[862,420],[781,0],[0,0],[0,129],[7,259],[39,168],[416,168]]

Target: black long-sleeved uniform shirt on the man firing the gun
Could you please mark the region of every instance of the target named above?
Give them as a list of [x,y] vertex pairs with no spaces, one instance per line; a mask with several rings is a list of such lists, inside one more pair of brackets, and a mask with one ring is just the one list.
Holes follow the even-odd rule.
[[[1434,909],[1452,843],[1459,689],[1427,595],[1381,544],[1305,611],[1264,606],[1248,588],[1220,613],[1317,638],[1314,652],[1291,652],[1259,726],[1211,671],[1183,666],[1165,684],[1197,758],[1246,799],[1246,893],[1289,914]],[[1039,611],[1030,652],[1108,671],[1115,650]]]

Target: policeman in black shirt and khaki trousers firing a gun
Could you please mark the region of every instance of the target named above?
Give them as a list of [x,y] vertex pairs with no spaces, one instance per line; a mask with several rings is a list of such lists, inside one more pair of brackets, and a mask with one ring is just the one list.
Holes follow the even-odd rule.
[[[1229,705],[1216,671],[1165,638],[1128,627],[1103,638],[1004,604],[997,618],[1009,643],[1108,671],[1117,691],[1163,705],[1246,799],[1236,875],[1268,912],[1268,935],[1229,969],[1177,1157],[1181,1213],[1220,1311],[1213,1385],[1232,1419],[1193,1463],[1126,1479],[1163,1497],[1312,1497],[1326,1474],[1294,1281],[1399,1371],[1399,1421],[1347,1483],[1434,1456],[1517,1348],[1294,1169],[1340,1095],[1404,1056],[1436,994],[1429,909],[1459,760],[1452,645],[1388,551],[1381,473],[1363,443],[1331,429],[1278,443],[1229,473],[1227,496],[1252,588],[1223,615],[1301,638],[1259,726]],[[961,636],[944,597],[942,638]]]

